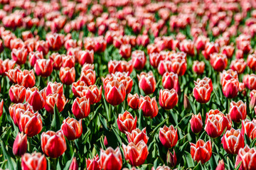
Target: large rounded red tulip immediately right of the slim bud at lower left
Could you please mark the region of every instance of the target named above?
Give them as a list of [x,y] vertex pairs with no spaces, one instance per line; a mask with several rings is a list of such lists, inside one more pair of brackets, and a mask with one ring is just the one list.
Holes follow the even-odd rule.
[[60,157],[67,149],[63,133],[60,130],[57,132],[50,130],[43,132],[41,135],[41,148],[48,157]]

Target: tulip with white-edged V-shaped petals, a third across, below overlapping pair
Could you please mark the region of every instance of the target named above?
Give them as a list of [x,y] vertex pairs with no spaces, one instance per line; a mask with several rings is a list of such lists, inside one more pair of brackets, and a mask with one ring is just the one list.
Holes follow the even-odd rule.
[[87,100],[85,96],[82,98],[75,98],[72,105],[72,112],[75,115],[75,118],[86,118],[90,114],[90,99]]

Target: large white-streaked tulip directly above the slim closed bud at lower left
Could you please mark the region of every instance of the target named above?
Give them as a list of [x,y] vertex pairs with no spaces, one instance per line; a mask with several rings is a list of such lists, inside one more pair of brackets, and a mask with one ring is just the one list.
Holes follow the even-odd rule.
[[21,132],[26,133],[28,137],[33,137],[41,132],[43,124],[41,115],[38,112],[25,111],[20,116],[18,128]]

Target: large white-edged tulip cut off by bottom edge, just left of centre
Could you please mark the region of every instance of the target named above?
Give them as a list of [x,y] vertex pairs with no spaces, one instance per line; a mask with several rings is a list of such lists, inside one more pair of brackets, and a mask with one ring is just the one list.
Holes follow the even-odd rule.
[[100,165],[103,170],[121,170],[122,154],[119,147],[115,150],[112,147],[100,149]]

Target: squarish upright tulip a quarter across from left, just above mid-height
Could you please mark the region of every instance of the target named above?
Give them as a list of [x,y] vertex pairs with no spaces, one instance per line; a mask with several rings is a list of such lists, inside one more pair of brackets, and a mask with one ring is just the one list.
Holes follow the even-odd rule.
[[60,67],[60,81],[66,85],[70,85],[75,82],[75,68]]

